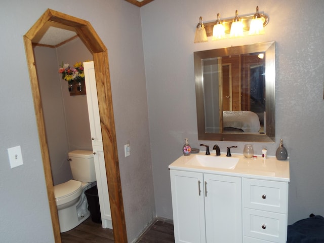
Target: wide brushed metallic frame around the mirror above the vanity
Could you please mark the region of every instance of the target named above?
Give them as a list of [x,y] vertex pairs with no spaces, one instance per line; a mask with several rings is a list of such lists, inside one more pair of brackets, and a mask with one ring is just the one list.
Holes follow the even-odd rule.
[[[206,58],[226,57],[248,53],[265,52],[266,87],[266,134],[206,133],[204,105],[204,76],[202,61]],[[196,88],[198,140],[275,142],[275,42],[227,47],[193,53]]]

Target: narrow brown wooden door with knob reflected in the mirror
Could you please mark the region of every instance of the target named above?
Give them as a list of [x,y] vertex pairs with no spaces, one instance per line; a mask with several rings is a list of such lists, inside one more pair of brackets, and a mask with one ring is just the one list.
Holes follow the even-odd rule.
[[230,64],[222,65],[222,110],[232,110],[232,80]]

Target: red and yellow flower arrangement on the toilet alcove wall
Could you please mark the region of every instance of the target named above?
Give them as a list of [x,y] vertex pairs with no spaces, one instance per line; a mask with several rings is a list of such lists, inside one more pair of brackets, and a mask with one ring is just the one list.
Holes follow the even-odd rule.
[[69,83],[72,83],[74,80],[80,82],[85,79],[84,67],[81,62],[76,62],[73,67],[68,63],[62,62],[59,73],[62,73],[62,78]]

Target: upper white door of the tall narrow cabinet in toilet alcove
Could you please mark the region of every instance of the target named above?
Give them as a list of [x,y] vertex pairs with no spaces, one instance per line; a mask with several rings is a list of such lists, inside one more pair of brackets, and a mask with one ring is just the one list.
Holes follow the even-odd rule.
[[102,146],[97,85],[96,85],[95,67],[93,61],[84,62],[84,72],[85,72],[85,79],[86,79],[87,103],[88,103],[92,145]]

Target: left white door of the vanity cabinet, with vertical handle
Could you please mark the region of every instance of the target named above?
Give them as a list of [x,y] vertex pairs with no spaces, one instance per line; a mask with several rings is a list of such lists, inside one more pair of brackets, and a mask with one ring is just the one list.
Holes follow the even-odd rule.
[[170,170],[170,176],[175,243],[206,242],[203,174]]

